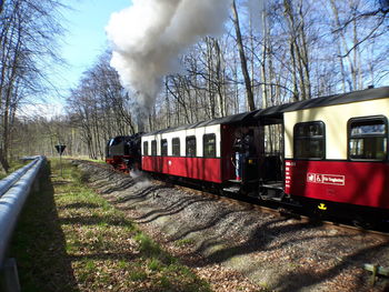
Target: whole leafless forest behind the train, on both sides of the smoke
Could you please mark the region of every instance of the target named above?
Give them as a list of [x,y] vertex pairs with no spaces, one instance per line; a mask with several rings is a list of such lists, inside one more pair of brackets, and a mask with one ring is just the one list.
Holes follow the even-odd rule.
[[[114,135],[215,119],[286,102],[380,87],[389,80],[386,0],[272,0],[249,13],[235,0],[227,32],[202,38],[166,75],[151,111],[139,118],[137,92],[123,89],[107,48],[71,89],[66,113],[20,117],[48,83],[63,33],[59,0],[0,2],[0,162],[21,155],[102,159]],[[251,11],[252,12],[252,11]],[[140,120],[141,119],[141,120]]]

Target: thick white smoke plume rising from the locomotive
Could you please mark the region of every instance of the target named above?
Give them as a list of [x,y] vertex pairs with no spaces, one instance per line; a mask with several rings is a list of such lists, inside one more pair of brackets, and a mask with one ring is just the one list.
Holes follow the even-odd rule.
[[163,75],[179,72],[178,56],[205,36],[219,36],[230,0],[132,0],[106,28],[111,66],[140,107],[154,104]]

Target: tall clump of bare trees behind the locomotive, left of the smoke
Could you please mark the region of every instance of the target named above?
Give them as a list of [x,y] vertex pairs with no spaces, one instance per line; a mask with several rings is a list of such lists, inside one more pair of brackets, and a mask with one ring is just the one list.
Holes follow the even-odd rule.
[[119,75],[109,66],[109,53],[84,72],[80,85],[68,99],[71,127],[79,130],[92,159],[104,157],[109,138],[134,133],[128,93],[120,84]]

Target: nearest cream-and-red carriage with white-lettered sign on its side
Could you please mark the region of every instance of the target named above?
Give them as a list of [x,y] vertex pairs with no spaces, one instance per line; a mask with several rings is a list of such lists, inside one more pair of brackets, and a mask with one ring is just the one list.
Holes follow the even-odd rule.
[[259,124],[277,118],[283,128],[285,194],[322,212],[389,220],[389,88],[273,107],[255,118]]

